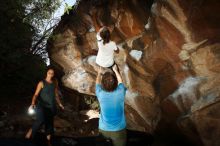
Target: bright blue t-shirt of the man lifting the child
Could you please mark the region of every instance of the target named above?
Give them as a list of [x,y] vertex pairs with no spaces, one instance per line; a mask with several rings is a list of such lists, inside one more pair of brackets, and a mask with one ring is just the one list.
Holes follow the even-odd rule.
[[99,129],[104,131],[119,131],[126,127],[124,100],[126,87],[120,83],[113,92],[102,89],[96,84],[96,96],[100,104]]

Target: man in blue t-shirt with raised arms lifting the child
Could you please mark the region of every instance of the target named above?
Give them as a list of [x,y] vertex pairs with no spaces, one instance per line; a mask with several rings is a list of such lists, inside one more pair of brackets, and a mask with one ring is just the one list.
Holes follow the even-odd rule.
[[101,76],[101,67],[96,79],[96,96],[100,104],[99,132],[111,139],[114,146],[126,145],[126,119],[124,101],[126,87],[116,65],[112,72]]

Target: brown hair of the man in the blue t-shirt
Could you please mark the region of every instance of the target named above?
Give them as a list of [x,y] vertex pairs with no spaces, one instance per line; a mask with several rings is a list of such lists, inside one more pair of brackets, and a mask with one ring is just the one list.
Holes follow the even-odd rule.
[[118,86],[118,80],[114,73],[105,72],[101,80],[102,88],[107,92],[114,91]]

